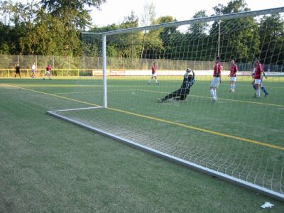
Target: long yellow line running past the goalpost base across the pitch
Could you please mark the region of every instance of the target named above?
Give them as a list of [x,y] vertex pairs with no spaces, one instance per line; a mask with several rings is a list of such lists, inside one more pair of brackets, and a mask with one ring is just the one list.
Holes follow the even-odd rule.
[[[95,107],[102,107],[102,106],[99,106],[97,104],[92,104],[92,103],[89,103],[89,102],[82,102],[80,100],[70,99],[70,98],[67,98],[67,97],[62,97],[62,96],[59,96],[59,95],[56,95],[56,94],[40,92],[40,91],[37,91],[37,90],[27,89],[27,88],[23,88],[23,87],[16,87],[16,86],[13,86],[13,85],[10,85],[10,84],[4,84],[4,85],[6,85],[6,87],[14,87],[14,88],[17,88],[17,89],[24,89],[24,90],[28,90],[28,91],[31,91],[31,92],[37,92],[37,93],[40,93],[40,94],[46,94],[46,95],[49,95],[49,96],[52,96],[52,97],[58,97],[58,98],[61,98],[61,99],[67,99],[67,100],[72,101],[72,102],[79,102],[79,103],[82,103],[82,104],[87,104],[87,105],[91,105],[91,106],[95,106]],[[158,118],[155,118],[155,117],[152,117],[152,116],[146,116],[146,115],[143,115],[143,114],[136,114],[136,113],[133,113],[131,111],[124,111],[122,109],[114,109],[114,108],[109,108],[109,107],[107,109],[109,109],[111,111],[119,111],[119,112],[122,112],[124,114],[131,114],[133,116],[139,116],[139,117],[142,117],[142,118],[145,118],[145,119],[151,119],[153,121],[160,121],[160,122],[163,122],[165,124],[173,124],[173,125],[176,125],[176,126],[182,126],[182,127],[187,128],[187,129],[202,131],[204,133],[209,133],[209,134],[216,135],[216,136],[232,138],[232,139],[235,139],[235,140],[238,140],[238,141],[254,143],[254,144],[257,144],[257,145],[260,145],[260,146],[266,146],[266,147],[269,147],[269,148],[275,148],[275,149],[278,149],[280,151],[284,151],[284,147],[275,146],[273,144],[263,143],[263,142],[260,142],[260,141],[254,141],[254,140],[251,140],[251,139],[248,139],[248,138],[241,138],[241,137],[238,137],[238,136],[231,136],[231,135],[228,135],[228,134],[225,134],[225,133],[219,133],[217,131],[211,131],[209,129],[202,129],[202,128],[199,128],[199,127],[196,127],[196,126],[189,126],[189,125],[185,125],[185,124],[180,124],[180,123],[177,123],[177,122],[174,122],[174,121],[158,119]]]

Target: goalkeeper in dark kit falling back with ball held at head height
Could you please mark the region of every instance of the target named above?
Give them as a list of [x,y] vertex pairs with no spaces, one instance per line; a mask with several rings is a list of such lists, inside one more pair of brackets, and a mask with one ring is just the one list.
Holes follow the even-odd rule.
[[[192,72],[192,74],[190,74]],[[158,99],[158,102],[162,103],[165,102],[167,99],[175,99],[175,100],[185,100],[187,97],[187,94],[190,94],[190,88],[195,83],[195,72],[190,70],[190,68],[187,68],[185,75],[183,75],[183,82],[180,87],[180,89],[176,90],[175,92],[172,92],[163,99]]]

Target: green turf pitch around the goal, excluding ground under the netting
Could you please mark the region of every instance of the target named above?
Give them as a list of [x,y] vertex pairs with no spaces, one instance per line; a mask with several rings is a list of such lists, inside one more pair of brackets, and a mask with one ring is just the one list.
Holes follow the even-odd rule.
[[[209,78],[197,78],[185,102],[163,104],[157,98],[178,89],[181,80],[160,77],[160,84],[148,85],[146,79],[110,79],[103,114],[153,131],[186,129],[195,143],[236,147],[230,154],[243,159],[246,151],[238,152],[246,147],[268,150],[283,163],[282,79],[268,78],[270,94],[261,99],[253,98],[249,77],[240,77],[235,93],[224,79],[214,104]],[[283,212],[278,200],[45,113],[102,105],[102,96],[102,80],[0,79],[0,212],[262,212],[266,201],[275,204],[270,212]],[[161,131],[175,139],[168,132]]]

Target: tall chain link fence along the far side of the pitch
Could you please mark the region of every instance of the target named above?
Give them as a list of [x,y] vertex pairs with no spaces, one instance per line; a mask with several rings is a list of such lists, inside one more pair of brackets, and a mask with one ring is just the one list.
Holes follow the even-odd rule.
[[[165,59],[140,59],[140,58],[107,58],[108,70],[151,70],[156,62],[158,70],[212,70],[214,61],[193,60],[165,60]],[[11,77],[15,66],[21,67],[21,75],[31,75],[31,66],[35,63],[37,75],[45,74],[45,67],[53,67],[53,76],[72,77],[92,75],[94,70],[102,70],[100,57],[69,57],[45,55],[0,55],[0,77]],[[222,62],[223,70],[229,70],[229,62]],[[253,70],[253,63],[238,64],[239,71]],[[283,65],[264,65],[264,69],[271,72],[283,72]]]

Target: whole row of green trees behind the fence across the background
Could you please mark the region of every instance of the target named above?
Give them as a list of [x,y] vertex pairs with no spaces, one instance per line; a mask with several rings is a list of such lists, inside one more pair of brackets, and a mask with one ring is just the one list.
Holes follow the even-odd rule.
[[[92,26],[90,9],[99,9],[105,0],[41,0],[0,1],[1,55],[64,55],[98,56],[99,45],[86,43],[82,31],[103,32],[158,23],[178,21],[172,16],[155,18],[155,6],[144,8],[141,20],[135,13],[122,23]],[[215,6],[210,16],[250,11],[245,0],[232,0]],[[192,18],[207,17],[198,11]],[[219,22],[190,24],[183,31],[178,27],[160,28],[107,39],[109,57],[160,58],[171,60],[214,60],[218,50]],[[261,18],[239,18],[220,23],[220,56],[248,62],[256,55],[266,63],[283,64],[284,23],[279,13]]]

